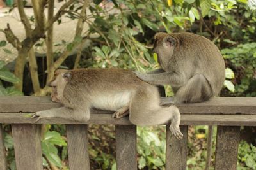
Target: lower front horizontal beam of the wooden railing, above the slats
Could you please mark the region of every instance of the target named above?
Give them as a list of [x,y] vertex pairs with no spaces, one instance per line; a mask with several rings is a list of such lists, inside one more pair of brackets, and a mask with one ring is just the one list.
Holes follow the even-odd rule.
[[[129,117],[115,119],[111,114],[92,113],[88,122],[76,122],[60,118],[42,118],[35,123],[36,118],[29,117],[31,113],[0,113],[0,123],[4,124],[100,124],[100,125],[131,125]],[[168,124],[168,122],[166,122]],[[256,126],[256,115],[181,115],[180,125],[227,125]]]

